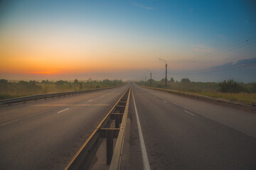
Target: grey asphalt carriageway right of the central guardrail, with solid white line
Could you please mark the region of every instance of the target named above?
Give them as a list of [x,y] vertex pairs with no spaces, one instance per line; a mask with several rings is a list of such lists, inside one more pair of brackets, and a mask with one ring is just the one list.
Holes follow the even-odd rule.
[[132,94],[123,169],[256,169],[255,113],[137,85]]

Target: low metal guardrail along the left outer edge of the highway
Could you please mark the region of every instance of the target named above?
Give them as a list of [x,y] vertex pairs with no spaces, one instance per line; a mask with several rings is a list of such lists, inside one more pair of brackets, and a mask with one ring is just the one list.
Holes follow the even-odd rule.
[[20,102],[26,103],[26,101],[37,101],[39,99],[45,99],[46,100],[46,98],[55,98],[55,97],[60,98],[61,96],[85,94],[85,93],[90,93],[92,91],[113,89],[115,87],[118,87],[118,86],[111,86],[111,87],[105,87],[105,88],[99,88],[99,89],[88,89],[88,90],[83,90],[83,91],[67,91],[67,92],[61,92],[61,93],[55,93],[55,94],[38,94],[38,95],[33,95],[33,96],[10,98],[10,99],[0,101],[0,105],[5,105],[5,104],[10,105],[11,103],[20,103]]

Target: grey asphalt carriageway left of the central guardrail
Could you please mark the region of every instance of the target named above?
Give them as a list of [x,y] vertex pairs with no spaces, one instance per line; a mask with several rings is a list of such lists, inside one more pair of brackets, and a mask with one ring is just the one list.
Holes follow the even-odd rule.
[[127,88],[0,106],[0,169],[64,169]]

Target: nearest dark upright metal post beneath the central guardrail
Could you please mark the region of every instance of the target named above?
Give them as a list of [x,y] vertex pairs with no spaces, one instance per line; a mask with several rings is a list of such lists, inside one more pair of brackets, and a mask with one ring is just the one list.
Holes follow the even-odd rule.
[[106,130],[106,147],[107,147],[107,159],[106,164],[109,165],[111,163],[112,155],[113,155],[113,130]]

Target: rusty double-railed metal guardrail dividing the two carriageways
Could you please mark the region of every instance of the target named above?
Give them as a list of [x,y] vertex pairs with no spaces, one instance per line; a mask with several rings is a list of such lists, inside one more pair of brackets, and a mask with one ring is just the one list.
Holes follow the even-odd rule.
[[[130,89],[131,87],[124,92],[117,103],[115,103],[111,111],[92,132],[82,147],[80,147],[73,159],[71,159],[68,165],[65,167],[66,170],[87,169],[90,165],[92,157],[94,156],[95,152],[97,152],[97,148],[100,145],[102,138],[106,138],[106,164],[111,163],[110,169],[117,170],[120,168],[122,160],[122,147],[124,144],[124,132],[127,124]],[[114,120],[115,128],[107,128],[110,126],[112,120]],[[117,138],[115,147],[113,146],[114,138]]]

